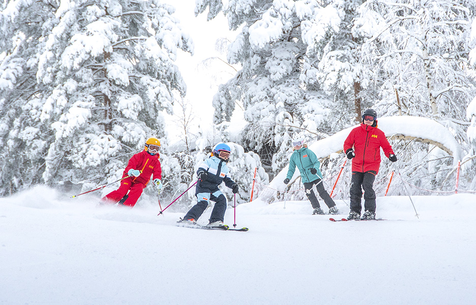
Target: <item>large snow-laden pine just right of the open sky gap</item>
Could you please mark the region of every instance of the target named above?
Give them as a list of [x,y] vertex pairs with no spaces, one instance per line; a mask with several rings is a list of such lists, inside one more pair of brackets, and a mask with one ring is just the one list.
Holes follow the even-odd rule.
[[[210,8],[213,17],[221,5],[201,0],[196,12]],[[329,131],[342,124],[342,107],[332,107],[332,99],[317,85],[318,60],[303,32],[321,10],[324,7],[312,0],[233,0],[223,9],[231,29],[242,26],[229,46],[228,62],[241,63],[243,69],[220,86],[214,98],[215,124],[229,120],[235,101],[241,101],[248,121],[242,144],[258,151],[270,172],[287,161],[289,143],[283,140],[289,141],[290,134],[303,126]],[[320,26],[327,29],[334,22],[328,18]]]

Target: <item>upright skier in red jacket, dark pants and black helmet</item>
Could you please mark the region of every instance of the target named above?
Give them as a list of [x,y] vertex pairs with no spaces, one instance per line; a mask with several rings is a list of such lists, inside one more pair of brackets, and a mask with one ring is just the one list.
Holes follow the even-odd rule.
[[[352,149],[353,147],[353,149]],[[352,160],[350,185],[350,214],[347,219],[360,219],[362,211],[362,189],[364,189],[365,212],[362,219],[375,219],[375,191],[373,182],[380,167],[380,147],[390,161],[397,161],[392,146],[383,131],[377,128],[377,112],[367,109],[362,124],[352,129],[344,141],[344,151]]]

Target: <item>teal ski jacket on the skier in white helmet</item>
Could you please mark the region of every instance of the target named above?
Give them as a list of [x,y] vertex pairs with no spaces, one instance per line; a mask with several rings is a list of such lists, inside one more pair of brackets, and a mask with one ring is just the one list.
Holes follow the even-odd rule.
[[[322,174],[319,169],[320,162],[317,160],[316,154],[314,154],[311,149],[307,148],[306,145],[301,147],[301,149],[294,150],[294,153],[292,153],[291,159],[289,160],[289,168],[286,178],[292,178],[296,166],[301,173],[303,183],[322,179]],[[312,174],[311,168],[315,168],[317,173]]]

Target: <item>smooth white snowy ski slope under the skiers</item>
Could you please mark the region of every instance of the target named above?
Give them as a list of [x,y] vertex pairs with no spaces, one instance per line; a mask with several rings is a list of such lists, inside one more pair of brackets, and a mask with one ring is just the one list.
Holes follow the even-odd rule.
[[[476,196],[377,198],[380,222],[309,202],[236,208],[248,232],[174,226],[36,188],[0,198],[0,304],[474,304]],[[337,201],[342,217],[348,207]],[[164,203],[162,204],[164,206]],[[210,211],[200,218],[205,222]],[[225,222],[233,224],[233,209]]]

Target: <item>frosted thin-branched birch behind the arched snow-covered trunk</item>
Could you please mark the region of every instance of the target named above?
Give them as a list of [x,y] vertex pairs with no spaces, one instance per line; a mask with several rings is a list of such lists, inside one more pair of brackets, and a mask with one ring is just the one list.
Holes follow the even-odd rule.
[[[373,72],[369,93],[380,116],[409,114],[438,120],[467,149],[465,113],[476,95],[468,69],[474,9],[473,1],[363,3],[352,33],[364,41],[361,61]],[[400,167],[411,173],[408,179],[416,185],[454,188],[448,179],[456,174],[458,160],[419,142],[403,141],[394,148],[402,157]]]

